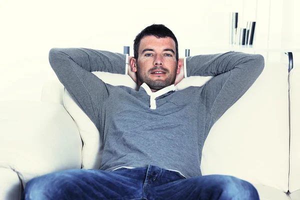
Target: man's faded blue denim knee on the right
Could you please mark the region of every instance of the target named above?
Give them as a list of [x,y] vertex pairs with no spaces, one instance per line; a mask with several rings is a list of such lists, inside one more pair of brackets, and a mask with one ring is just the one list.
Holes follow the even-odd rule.
[[259,199],[255,187],[239,178],[221,175],[217,181],[216,188],[220,192],[219,199]]

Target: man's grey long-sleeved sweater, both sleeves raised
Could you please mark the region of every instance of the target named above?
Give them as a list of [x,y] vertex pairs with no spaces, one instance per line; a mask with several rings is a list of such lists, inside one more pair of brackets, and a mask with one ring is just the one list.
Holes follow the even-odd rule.
[[58,79],[100,132],[100,169],[151,164],[185,177],[201,175],[202,148],[211,126],[259,76],[263,57],[232,51],[187,57],[187,76],[214,77],[200,87],[176,91],[171,85],[159,95],[151,94],[145,83],[136,91],[104,83],[91,73],[125,74],[125,57],[86,48],[49,52]]

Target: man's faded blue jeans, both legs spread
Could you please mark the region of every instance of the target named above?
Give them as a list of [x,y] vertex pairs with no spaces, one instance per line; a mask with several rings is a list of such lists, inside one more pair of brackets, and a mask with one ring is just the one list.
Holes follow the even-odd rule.
[[244,180],[226,175],[184,178],[149,165],[115,171],[70,169],[30,180],[25,199],[259,199]]

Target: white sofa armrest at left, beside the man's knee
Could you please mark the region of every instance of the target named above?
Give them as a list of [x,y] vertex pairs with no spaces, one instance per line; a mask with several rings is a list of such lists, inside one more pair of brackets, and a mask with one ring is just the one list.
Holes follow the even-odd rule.
[[81,168],[82,141],[71,116],[58,103],[0,101],[0,167],[24,185],[33,177]]

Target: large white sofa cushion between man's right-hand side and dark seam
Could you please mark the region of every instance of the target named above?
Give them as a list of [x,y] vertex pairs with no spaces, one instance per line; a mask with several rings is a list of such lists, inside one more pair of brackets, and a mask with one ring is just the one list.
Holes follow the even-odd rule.
[[261,75],[213,125],[201,171],[288,189],[287,67],[267,63]]

